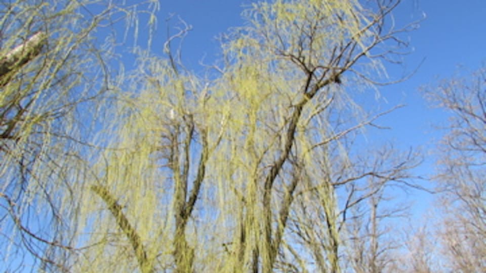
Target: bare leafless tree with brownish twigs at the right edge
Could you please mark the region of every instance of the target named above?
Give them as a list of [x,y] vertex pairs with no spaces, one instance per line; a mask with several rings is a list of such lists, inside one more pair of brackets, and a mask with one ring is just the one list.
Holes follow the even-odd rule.
[[443,192],[440,233],[452,270],[486,270],[486,70],[443,81],[427,90],[432,102],[450,115],[441,151],[438,187]]

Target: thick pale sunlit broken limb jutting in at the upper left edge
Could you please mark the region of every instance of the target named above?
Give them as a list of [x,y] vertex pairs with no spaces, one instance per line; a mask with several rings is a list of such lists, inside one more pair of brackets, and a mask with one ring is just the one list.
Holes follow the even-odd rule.
[[39,31],[2,57],[0,59],[0,86],[6,85],[12,79],[12,72],[37,57],[45,44],[46,34]]

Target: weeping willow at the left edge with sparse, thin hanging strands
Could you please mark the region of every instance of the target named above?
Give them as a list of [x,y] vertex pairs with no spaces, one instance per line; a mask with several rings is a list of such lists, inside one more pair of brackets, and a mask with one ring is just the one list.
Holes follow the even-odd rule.
[[134,7],[0,2],[0,270],[70,270],[77,189],[114,94],[103,29]]

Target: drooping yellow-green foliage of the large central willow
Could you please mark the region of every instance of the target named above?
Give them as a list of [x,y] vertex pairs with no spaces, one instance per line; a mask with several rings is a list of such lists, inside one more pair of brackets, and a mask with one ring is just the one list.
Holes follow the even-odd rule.
[[[364,14],[354,1],[254,4],[244,13],[249,25],[236,29],[230,35],[234,39],[223,44],[223,71],[209,80],[175,68],[169,60],[140,59],[129,103],[117,108],[124,117],[116,132],[119,137],[99,161],[100,176],[93,183],[106,186],[123,205],[155,270],[188,266],[184,270],[247,271],[255,257],[258,266],[271,270],[276,266],[275,249],[310,247],[298,247],[280,222],[291,215],[310,234],[314,229],[329,230],[325,234],[330,240],[325,249],[307,249],[308,258],[292,259],[302,259],[304,270],[312,255],[323,251],[327,261],[318,261],[321,269],[338,270],[332,250],[340,242],[337,203],[328,147],[339,146],[342,136],[335,136],[338,132],[329,119],[331,109],[353,110],[352,102],[341,104],[348,97],[332,77],[368,50],[372,29],[366,25],[372,18]],[[337,51],[346,43],[360,49]],[[349,54],[348,59],[339,59],[340,53]],[[302,113],[296,116],[296,111]],[[293,122],[296,129],[289,133]],[[188,139],[191,130],[194,134]],[[184,229],[187,246],[182,243],[195,250],[194,260],[190,265],[174,264],[178,206],[181,200],[187,205],[205,147],[205,176]],[[346,162],[345,152],[342,160]],[[271,179],[265,196],[265,181],[277,165],[278,176]],[[286,195],[293,180],[296,189],[290,195],[299,200],[295,206]],[[134,270],[137,259],[131,242],[106,206],[94,193],[85,200],[85,229],[94,234],[90,243],[98,244],[78,262]],[[285,206],[288,212],[280,212]],[[300,206],[309,206],[315,215],[323,213],[329,224],[306,223]],[[270,245],[264,243],[267,225]],[[312,236],[318,240],[317,233]],[[192,255],[187,251],[184,255]]]

